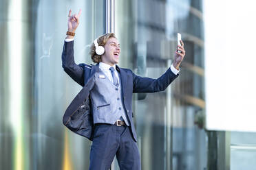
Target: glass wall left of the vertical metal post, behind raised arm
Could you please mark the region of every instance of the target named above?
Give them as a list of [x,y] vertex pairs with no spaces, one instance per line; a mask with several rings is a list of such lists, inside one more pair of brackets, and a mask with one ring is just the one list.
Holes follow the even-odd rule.
[[75,61],[92,63],[89,46],[105,29],[104,1],[0,1],[0,8],[0,169],[88,169],[91,143],[62,123],[81,86],[63,71],[61,52],[68,12],[81,9]]

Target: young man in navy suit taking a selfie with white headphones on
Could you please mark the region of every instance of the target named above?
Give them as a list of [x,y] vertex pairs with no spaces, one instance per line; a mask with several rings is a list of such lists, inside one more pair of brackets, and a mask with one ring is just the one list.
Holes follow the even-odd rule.
[[173,64],[158,79],[140,77],[117,65],[120,45],[113,33],[100,36],[92,44],[90,54],[96,65],[77,65],[73,47],[80,15],[81,10],[73,15],[70,10],[62,60],[65,72],[83,88],[67,108],[63,123],[92,141],[89,169],[109,169],[115,155],[120,169],[141,169],[132,93],[154,93],[167,88],[178,77],[185,56],[184,44],[181,41],[177,47],[181,52],[175,52]]

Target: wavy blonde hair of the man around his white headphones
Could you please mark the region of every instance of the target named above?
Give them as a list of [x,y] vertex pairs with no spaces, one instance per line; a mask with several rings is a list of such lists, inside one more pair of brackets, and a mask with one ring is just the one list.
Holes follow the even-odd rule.
[[[111,37],[116,38],[116,35],[114,33],[107,33],[107,34],[104,34],[104,35],[100,36],[97,40],[98,45],[104,47],[107,40]],[[102,55],[98,55],[96,53],[95,49],[96,49],[96,47],[94,45],[94,42],[92,42],[91,50],[90,50],[89,54],[91,55],[92,61],[95,62],[95,63],[98,63],[98,62],[101,62],[101,56]]]

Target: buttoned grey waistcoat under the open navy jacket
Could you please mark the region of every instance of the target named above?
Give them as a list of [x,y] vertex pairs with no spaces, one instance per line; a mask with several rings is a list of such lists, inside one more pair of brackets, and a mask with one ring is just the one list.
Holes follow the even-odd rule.
[[116,87],[107,76],[99,69],[95,73],[94,88],[90,91],[92,109],[95,123],[114,124],[120,119],[129,125],[125,110],[122,106],[121,82],[119,75],[119,86]]

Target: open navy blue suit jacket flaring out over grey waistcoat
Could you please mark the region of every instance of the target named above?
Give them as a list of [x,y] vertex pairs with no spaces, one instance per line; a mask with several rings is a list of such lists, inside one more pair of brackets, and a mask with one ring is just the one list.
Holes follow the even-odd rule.
[[[62,66],[64,71],[70,75],[74,81],[83,86],[82,90],[76,95],[65,111],[63,124],[72,130],[72,132],[85,136],[92,141],[94,124],[89,91],[94,86],[94,74],[99,69],[98,64],[76,64],[74,62],[74,41],[71,41],[65,42],[64,44]],[[120,73],[121,77],[122,101],[129,119],[130,130],[133,134],[134,141],[137,141],[132,112],[132,94],[162,91],[167,88],[178,75],[175,75],[171,69],[168,69],[158,79],[151,79],[149,77],[135,75],[130,69],[123,69],[118,65],[116,65],[116,70]]]

